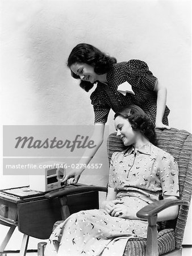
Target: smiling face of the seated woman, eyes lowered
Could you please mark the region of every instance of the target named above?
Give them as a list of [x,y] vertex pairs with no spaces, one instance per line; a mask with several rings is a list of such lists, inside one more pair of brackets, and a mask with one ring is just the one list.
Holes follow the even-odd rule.
[[122,139],[124,146],[135,144],[137,132],[132,129],[128,119],[123,118],[120,115],[116,117],[115,129],[117,131],[116,136],[119,136]]

